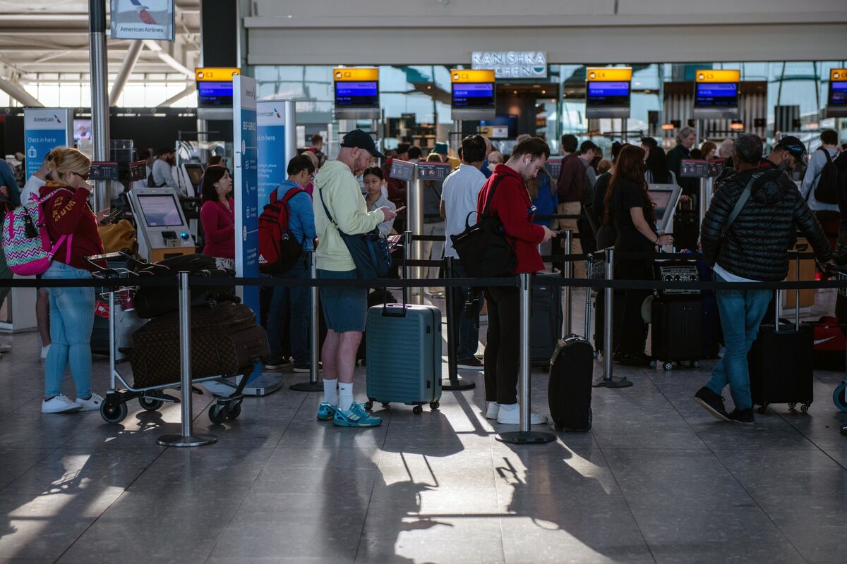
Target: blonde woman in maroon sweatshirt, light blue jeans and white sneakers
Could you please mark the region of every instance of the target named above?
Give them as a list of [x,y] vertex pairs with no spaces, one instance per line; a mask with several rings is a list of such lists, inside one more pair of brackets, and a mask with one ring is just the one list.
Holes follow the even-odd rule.
[[[41,197],[53,194],[44,204],[45,222],[50,240],[58,244],[53,262],[42,275],[50,279],[91,279],[90,267],[83,260],[102,255],[103,244],[97,232],[98,216],[88,207],[91,185],[87,183],[91,160],[76,149],[58,147],[47,155],[50,176],[42,186]],[[91,327],[94,325],[93,287],[49,287],[50,339],[52,344],[44,364],[44,401],[42,413],[90,411],[100,408],[102,397],[91,392]],[[62,394],[64,370],[76,385],[76,400]]]

